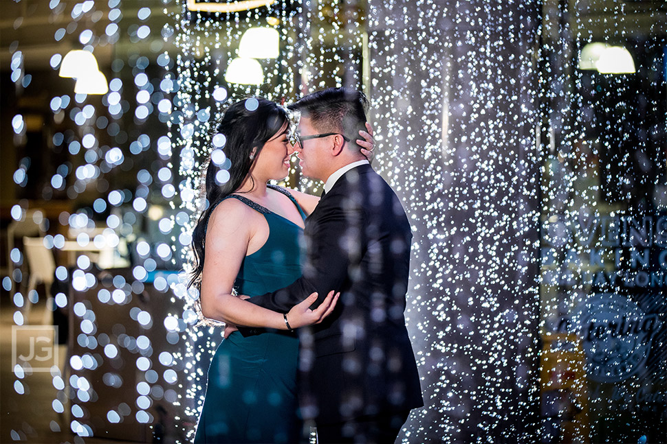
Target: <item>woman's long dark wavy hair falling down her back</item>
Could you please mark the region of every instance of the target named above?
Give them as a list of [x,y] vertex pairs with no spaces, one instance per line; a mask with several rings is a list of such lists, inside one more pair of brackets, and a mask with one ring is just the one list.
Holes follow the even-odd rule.
[[[231,162],[228,169],[230,177],[226,183],[218,183],[216,175],[222,165],[216,165],[208,159],[206,178],[204,178],[207,206],[199,215],[193,230],[195,264],[188,286],[196,285],[197,289],[201,287],[206,226],[211,212],[221,200],[243,185],[264,144],[288,124],[289,118],[285,110],[262,97],[250,97],[232,104],[217,124],[214,134],[221,134],[226,138],[223,152]],[[253,152],[254,148],[256,150]]]

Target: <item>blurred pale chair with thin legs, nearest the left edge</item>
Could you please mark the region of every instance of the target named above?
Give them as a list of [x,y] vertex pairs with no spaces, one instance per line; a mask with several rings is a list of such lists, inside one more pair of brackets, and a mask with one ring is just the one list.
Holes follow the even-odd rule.
[[[29,276],[28,292],[26,292],[25,303],[23,305],[23,313],[28,314],[33,303],[31,300],[32,290],[36,290],[39,283],[43,283],[46,290],[47,308],[45,310],[43,324],[50,324],[49,316],[51,314],[51,305],[53,304],[51,297],[51,284],[53,283],[54,274],[56,272],[56,261],[53,257],[53,252],[44,245],[43,237],[23,237],[23,253],[25,259],[28,261]],[[35,301],[36,302],[36,301]]]

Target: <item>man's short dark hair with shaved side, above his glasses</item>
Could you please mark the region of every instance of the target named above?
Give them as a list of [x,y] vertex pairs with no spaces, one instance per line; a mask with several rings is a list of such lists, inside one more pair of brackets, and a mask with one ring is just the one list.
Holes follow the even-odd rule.
[[[340,132],[354,141],[359,138],[359,130],[366,130],[369,100],[356,89],[329,88],[301,97],[289,109],[300,111],[322,133]],[[359,150],[356,143],[347,145],[351,150]]]

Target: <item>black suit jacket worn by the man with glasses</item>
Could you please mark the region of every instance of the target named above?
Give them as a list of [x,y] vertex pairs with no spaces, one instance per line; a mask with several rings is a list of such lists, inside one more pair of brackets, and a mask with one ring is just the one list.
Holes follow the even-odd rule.
[[424,405],[404,310],[412,233],[400,200],[370,165],[346,172],[305,221],[303,276],[252,303],[288,312],[311,292],[334,312],[300,329],[305,419],[336,423]]

